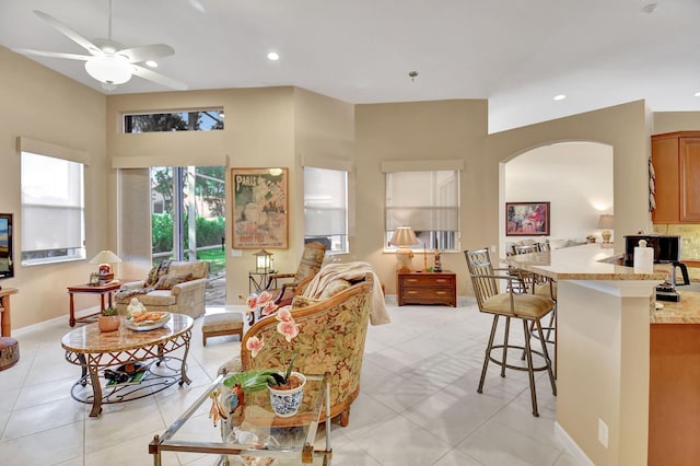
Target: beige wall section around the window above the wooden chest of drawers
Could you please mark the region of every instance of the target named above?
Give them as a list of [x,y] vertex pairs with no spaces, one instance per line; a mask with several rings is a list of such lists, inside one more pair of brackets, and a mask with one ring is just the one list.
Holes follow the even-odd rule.
[[[386,161],[462,160],[462,242],[474,241],[482,229],[479,190],[485,178],[482,161],[487,140],[488,103],[483,100],[372,104],[355,107],[358,164],[358,243],[361,260],[372,263],[388,294],[396,293],[396,258],[384,253],[384,174]],[[492,176],[492,182],[498,177]],[[420,189],[420,186],[417,186]],[[493,243],[495,244],[495,243]],[[413,265],[422,268],[422,257]],[[464,294],[466,263],[464,255],[442,255],[443,268],[460,272],[459,290]],[[429,257],[429,267],[432,266]]]

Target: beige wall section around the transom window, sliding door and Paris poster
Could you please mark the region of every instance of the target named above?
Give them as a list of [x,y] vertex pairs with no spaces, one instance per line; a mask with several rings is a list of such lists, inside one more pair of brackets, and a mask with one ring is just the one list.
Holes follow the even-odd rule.
[[[115,167],[148,167],[158,165],[225,165],[228,167],[290,167],[290,198],[294,198],[296,173],[294,168],[293,131],[294,90],[267,88],[172,92],[108,97],[107,141]],[[223,131],[163,132],[126,135],[121,129],[125,113],[223,108]],[[226,170],[226,251],[231,238],[231,189]],[[110,176],[110,200],[116,199],[116,170]],[[290,203],[290,244],[302,242],[294,235],[294,219],[299,208]],[[110,219],[116,222],[116,215]],[[124,225],[124,228],[130,228]],[[144,228],[133,225],[131,228]],[[117,231],[116,229],[114,230]],[[149,234],[144,228],[143,234]],[[230,304],[243,303],[248,294],[247,271],[252,269],[252,254],[245,249],[241,257],[226,260],[226,295]],[[275,265],[291,267],[294,249],[271,249]],[[295,265],[294,265],[295,268]],[[241,296],[241,299],[238,299]]]

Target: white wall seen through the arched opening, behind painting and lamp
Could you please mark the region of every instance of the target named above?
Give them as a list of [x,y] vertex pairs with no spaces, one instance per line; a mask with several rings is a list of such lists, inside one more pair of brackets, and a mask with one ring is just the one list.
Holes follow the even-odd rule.
[[[614,213],[612,148],[594,142],[562,142],[533,149],[504,166],[506,202],[550,205],[552,246],[564,240],[600,236],[600,213]],[[501,244],[526,236],[505,236]],[[598,240],[600,241],[600,240]]]

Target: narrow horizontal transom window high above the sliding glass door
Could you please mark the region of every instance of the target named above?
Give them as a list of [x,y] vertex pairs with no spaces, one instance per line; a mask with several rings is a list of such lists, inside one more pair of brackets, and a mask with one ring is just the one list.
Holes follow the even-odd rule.
[[124,116],[124,132],[212,131],[223,129],[223,112],[207,109]]

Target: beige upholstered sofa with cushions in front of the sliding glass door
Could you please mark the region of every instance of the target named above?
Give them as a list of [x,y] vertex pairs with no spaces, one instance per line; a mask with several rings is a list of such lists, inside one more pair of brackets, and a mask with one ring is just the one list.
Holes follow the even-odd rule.
[[197,318],[205,314],[205,292],[209,263],[168,261],[156,265],[145,280],[124,283],[115,293],[119,313],[126,312],[132,298],[149,311],[167,311]]

